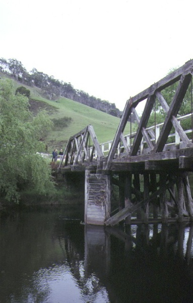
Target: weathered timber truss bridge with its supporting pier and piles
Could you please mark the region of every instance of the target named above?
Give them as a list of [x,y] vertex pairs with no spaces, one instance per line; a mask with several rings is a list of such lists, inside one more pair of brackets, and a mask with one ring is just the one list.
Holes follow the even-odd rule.
[[[85,224],[193,220],[192,75],[190,60],[128,99],[112,141],[99,144],[91,125],[69,139],[58,172],[84,175]],[[159,124],[158,107],[165,113]]]

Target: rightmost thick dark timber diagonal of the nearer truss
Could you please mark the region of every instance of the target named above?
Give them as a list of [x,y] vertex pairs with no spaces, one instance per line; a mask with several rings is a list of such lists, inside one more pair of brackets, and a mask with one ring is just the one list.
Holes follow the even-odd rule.
[[169,111],[167,113],[167,117],[164,121],[164,125],[161,129],[159,138],[156,142],[154,148],[155,153],[159,153],[160,151],[163,151],[164,145],[167,141],[168,135],[172,128],[172,117],[177,116],[190,81],[191,81],[191,74],[181,76],[177,90],[175,92]]

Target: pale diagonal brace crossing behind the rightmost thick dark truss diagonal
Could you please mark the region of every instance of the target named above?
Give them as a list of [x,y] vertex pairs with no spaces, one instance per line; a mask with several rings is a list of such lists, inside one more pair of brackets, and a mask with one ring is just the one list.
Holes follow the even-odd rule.
[[[169,106],[168,106],[166,100],[164,99],[163,95],[159,91],[157,91],[156,96],[157,96],[159,102],[161,103],[164,111],[167,114],[169,112]],[[184,132],[183,128],[181,127],[180,123],[177,121],[177,118],[175,116],[171,117],[171,122],[172,122],[173,127],[177,131],[178,135],[180,136],[182,142],[185,145],[189,144],[189,139],[188,139],[186,133]]]

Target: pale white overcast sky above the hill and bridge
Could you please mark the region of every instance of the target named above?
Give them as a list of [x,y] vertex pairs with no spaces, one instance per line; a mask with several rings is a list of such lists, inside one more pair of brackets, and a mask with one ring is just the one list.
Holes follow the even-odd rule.
[[3,0],[0,58],[123,110],[193,59],[192,0]]

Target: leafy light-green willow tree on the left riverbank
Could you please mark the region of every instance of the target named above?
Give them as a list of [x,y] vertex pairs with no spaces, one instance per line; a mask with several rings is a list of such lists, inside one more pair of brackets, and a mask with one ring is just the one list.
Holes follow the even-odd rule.
[[52,124],[44,112],[32,116],[28,98],[15,94],[11,80],[0,80],[1,197],[18,202],[23,187],[40,194],[54,190],[50,166],[36,154],[45,150],[40,138]]

